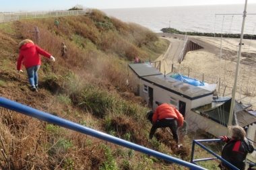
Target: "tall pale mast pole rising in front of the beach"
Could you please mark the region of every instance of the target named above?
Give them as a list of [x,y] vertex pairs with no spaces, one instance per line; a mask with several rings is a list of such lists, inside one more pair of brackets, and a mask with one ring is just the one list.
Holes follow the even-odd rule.
[[231,106],[230,106],[230,113],[228,118],[228,126],[232,126],[232,119],[233,119],[233,113],[234,113],[234,98],[236,95],[236,84],[237,84],[237,78],[239,75],[239,64],[240,64],[240,56],[241,56],[241,48],[243,45],[243,35],[244,35],[244,28],[245,28],[245,17],[247,13],[247,0],[245,0],[245,10],[243,15],[243,24],[241,29],[241,37],[240,37],[240,43],[239,43],[239,50],[238,50],[238,57],[237,57],[237,63],[236,63],[236,75],[234,76],[234,87],[232,91],[232,99],[231,99]]

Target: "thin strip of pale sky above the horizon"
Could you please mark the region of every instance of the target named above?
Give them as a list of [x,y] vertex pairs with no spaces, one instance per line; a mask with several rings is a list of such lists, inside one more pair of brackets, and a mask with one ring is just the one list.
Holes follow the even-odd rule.
[[[245,0],[0,0],[0,12],[67,10],[75,5],[96,9],[171,7],[245,3]],[[248,0],[247,3],[256,3]]]

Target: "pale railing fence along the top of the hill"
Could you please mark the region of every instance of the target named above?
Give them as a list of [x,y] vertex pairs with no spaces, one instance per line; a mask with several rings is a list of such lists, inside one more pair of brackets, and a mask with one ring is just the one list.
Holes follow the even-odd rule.
[[73,11],[27,11],[15,13],[0,13],[0,23],[11,22],[18,19],[85,15],[86,13],[90,13],[90,9]]

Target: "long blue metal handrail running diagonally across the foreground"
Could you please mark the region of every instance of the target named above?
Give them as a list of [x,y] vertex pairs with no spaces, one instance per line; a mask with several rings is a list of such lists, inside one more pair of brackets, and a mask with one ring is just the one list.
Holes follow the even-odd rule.
[[31,116],[33,118],[37,118],[37,119],[43,120],[45,122],[50,122],[52,124],[57,124],[57,125],[62,126],[64,128],[75,130],[75,131],[81,132],[83,134],[88,134],[90,136],[94,136],[96,138],[100,138],[102,140],[106,140],[108,142],[112,142],[114,144],[124,146],[126,148],[131,148],[134,151],[139,151],[139,152],[145,153],[147,155],[152,155],[152,156],[157,157],[159,159],[164,159],[165,161],[169,161],[169,162],[172,162],[172,163],[177,163],[179,165],[189,167],[190,169],[199,169],[199,170],[205,169],[205,168],[199,167],[198,165],[195,165],[193,163],[188,163],[188,162],[183,161],[181,159],[170,157],[169,155],[159,153],[159,152],[154,151],[150,148],[146,148],[146,147],[140,146],[138,144],[128,142],[127,140],[123,140],[121,138],[111,136],[109,134],[100,132],[98,130],[93,130],[92,128],[88,128],[86,126],[82,126],[81,124],[77,124],[75,122],[71,122],[69,120],[65,120],[63,118],[59,118],[57,116],[47,114],[47,113],[42,112],[40,110],[30,108],[26,105],[22,105],[20,103],[17,103],[15,101],[11,101],[9,99],[5,99],[3,97],[0,97],[0,107],[7,108],[7,109],[13,110],[15,112],[19,112],[21,114],[25,114],[27,116]]

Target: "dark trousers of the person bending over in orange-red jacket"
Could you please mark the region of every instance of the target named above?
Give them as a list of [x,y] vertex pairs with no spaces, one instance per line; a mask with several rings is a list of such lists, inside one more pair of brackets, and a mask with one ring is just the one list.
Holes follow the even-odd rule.
[[156,132],[157,128],[170,128],[170,131],[172,131],[172,135],[173,135],[174,140],[177,143],[179,142],[177,120],[175,120],[175,119],[162,119],[162,120],[158,120],[158,121],[154,122],[153,125],[152,125],[152,128],[150,130],[150,139],[153,138],[153,135]]

